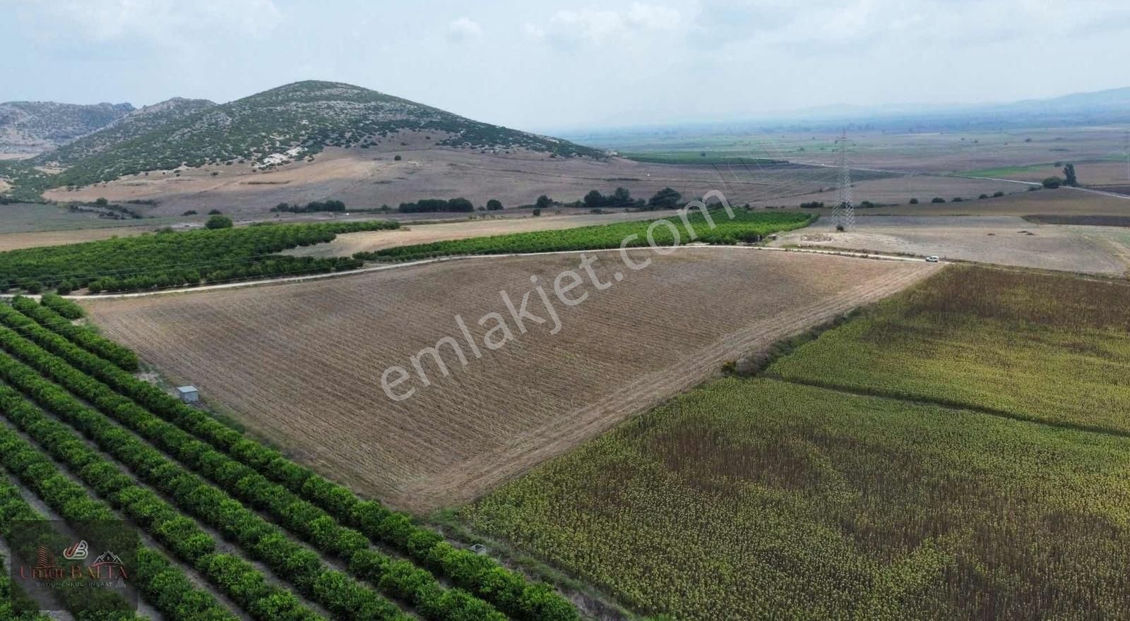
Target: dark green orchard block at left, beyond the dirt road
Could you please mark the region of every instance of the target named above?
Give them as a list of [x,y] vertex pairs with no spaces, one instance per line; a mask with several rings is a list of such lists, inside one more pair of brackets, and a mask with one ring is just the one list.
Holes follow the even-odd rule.
[[351,269],[358,263],[349,259],[275,253],[330,242],[340,233],[399,226],[382,220],[270,224],[21,248],[0,253],[0,290],[128,291]]

